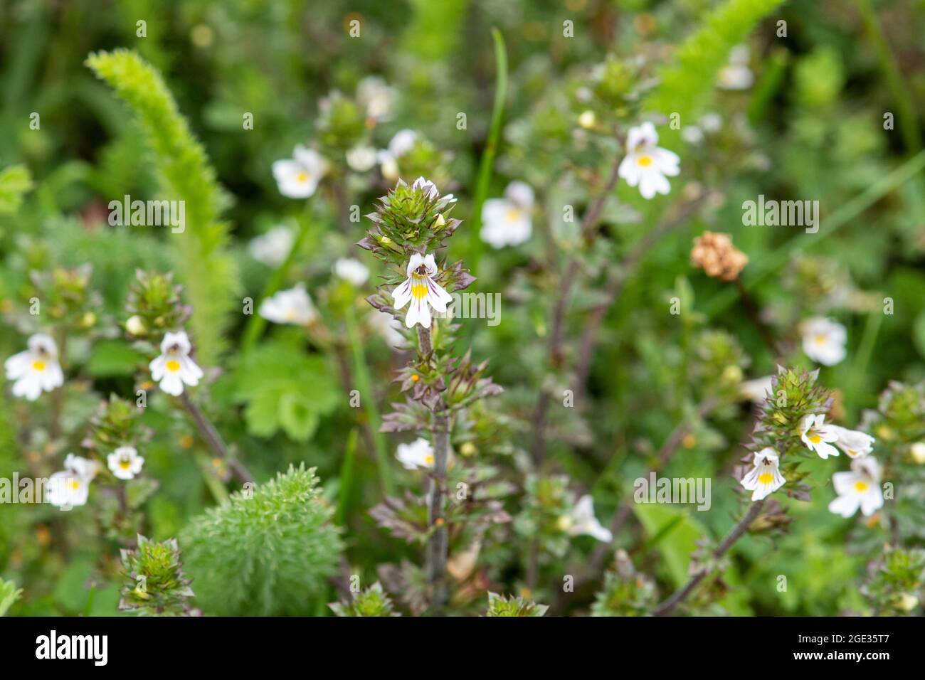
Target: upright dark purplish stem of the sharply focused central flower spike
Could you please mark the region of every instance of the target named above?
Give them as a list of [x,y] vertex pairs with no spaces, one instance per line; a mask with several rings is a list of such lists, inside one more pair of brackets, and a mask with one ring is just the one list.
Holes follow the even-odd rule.
[[[417,327],[418,353],[422,361],[434,353],[430,328]],[[427,526],[433,532],[427,541],[427,582],[431,587],[430,607],[439,613],[447,603],[447,527],[443,517],[443,496],[450,457],[450,415],[440,400],[434,408],[434,471],[427,488]]]

